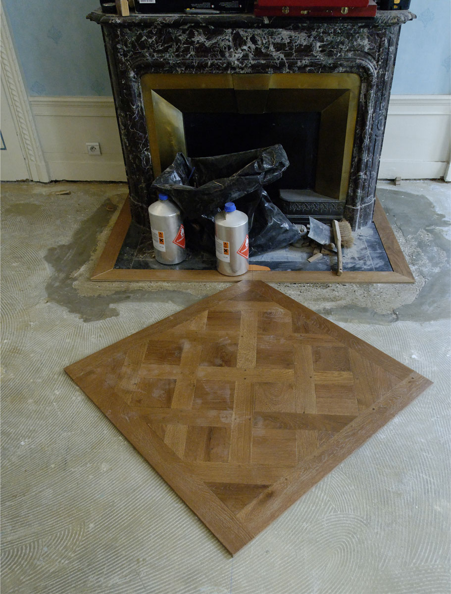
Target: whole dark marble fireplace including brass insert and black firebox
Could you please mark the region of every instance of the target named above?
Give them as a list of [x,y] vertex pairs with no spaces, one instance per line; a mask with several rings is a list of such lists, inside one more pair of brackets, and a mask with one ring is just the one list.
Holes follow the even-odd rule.
[[289,218],[371,223],[400,27],[411,12],[87,18],[102,26],[135,223],[149,226],[153,179],[177,151],[276,143],[291,165],[269,193]]

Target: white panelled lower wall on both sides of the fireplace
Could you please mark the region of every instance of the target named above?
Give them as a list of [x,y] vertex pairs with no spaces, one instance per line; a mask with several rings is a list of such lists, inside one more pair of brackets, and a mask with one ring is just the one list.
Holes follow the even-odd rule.
[[[30,105],[51,179],[127,179],[112,97],[31,97]],[[443,177],[450,122],[449,95],[390,97],[379,178]],[[100,156],[87,153],[90,142],[100,143]]]

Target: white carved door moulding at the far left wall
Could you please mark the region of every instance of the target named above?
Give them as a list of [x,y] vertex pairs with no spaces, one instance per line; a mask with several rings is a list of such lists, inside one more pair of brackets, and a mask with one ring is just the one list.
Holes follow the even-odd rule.
[[29,178],[49,182],[50,176],[37,136],[29,99],[24,87],[20,68],[5,11],[1,8],[1,76],[5,94],[11,109],[15,131],[26,163]]

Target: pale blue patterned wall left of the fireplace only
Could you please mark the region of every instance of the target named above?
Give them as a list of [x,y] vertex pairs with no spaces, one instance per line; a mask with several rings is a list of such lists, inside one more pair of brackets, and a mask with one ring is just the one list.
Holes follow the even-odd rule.
[[96,0],[2,0],[31,96],[111,96]]

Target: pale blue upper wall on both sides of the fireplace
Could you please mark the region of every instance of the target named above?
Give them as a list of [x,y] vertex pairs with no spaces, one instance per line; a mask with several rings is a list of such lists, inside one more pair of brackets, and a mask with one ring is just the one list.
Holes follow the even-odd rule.
[[[31,96],[111,96],[96,0],[2,0]],[[393,94],[450,94],[451,0],[412,0]]]

